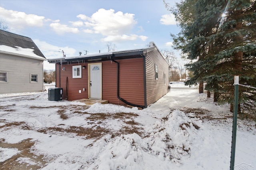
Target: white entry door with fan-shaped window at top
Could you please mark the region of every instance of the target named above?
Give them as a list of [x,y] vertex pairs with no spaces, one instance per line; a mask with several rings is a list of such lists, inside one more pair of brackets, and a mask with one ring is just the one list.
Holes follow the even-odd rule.
[[90,99],[102,99],[102,63],[88,64],[88,86]]

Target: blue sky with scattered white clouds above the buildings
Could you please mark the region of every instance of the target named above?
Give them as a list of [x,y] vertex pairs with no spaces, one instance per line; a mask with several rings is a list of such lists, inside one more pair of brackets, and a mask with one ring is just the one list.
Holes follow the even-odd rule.
[[[174,6],[180,0],[166,0]],[[1,0],[10,32],[30,37],[46,59],[146,47],[172,49],[179,28],[162,0]],[[174,51],[176,57],[179,53]],[[54,69],[44,62],[44,69]]]

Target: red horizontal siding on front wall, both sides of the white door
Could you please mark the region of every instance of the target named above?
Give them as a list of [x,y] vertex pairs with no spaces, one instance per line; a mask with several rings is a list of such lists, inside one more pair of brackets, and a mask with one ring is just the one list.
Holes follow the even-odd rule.
[[[119,63],[119,96],[127,102],[144,105],[143,59],[116,60]],[[98,63],[98,62],[95,62]],[[102,61],[102,100],[112,104],[125,104],[117,98],[117,64]],[[81,63],[80,63],[81,64]],[[68,100],[88,98],[88,63],[82,69],[82,78],[72,78],[72,66],[76,64],[56,64],[56,86],[63,88],[62,98],[66,99],[66,77],[68,77]],[[60,66],[60,68],[59,68]],[[65,67],[65,70],[62,68]],[[59,86],[60,70],[60,86]],[[83,88],[86,90],[83,91]],[[79,90],[82,93],[79,93]]]

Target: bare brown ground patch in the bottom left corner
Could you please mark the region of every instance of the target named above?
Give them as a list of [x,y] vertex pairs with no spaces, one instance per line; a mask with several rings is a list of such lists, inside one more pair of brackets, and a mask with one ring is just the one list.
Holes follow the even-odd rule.
[[[36,155],[30,152],[31,147],[34,145],[34,141],[31,139],[25,139],[19,143],[4,143],[0,142],[0,147],[3,148],[17,148],[20,152],[11,158],[0,162],[0,170],[37,170],[42,168],[47,161],[44,160],[44,155]],[[29,162],[34,162],[29,164],[26,161],[22,161],[22,158],[28,158]]]

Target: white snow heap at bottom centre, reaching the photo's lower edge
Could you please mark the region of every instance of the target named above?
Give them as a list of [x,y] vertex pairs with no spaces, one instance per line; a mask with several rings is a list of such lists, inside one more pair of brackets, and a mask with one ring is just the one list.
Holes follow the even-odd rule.
[[136,133],[121,135],[108,141],[95,162],[85,169],[144,169],[141,162],[147,148],[147,143]]

